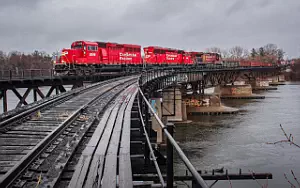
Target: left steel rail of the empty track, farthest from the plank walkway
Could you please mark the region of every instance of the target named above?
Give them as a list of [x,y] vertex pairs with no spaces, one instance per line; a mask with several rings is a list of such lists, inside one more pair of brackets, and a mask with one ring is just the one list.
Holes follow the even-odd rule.
[[[124,78],[123,78],[124,79]],[[11,117],[11,118],[8,118],[8,119],[5,119],[3,121],[0,122],[0,128],[3,128],[5,127],[7,124],[9,123],[12,123],[22,117],[25,117],[27,115],[30,115],[31,113],[37,111],[37,110],[40,110],[48,105],[51,105],[51,104],[54,104],[56,102],[59,102],[59,101],[62,101],[64,99],[68,99],[68,97],[72,97],[72,96],[76,96],[76,95],[79,95],[81,94],[82,92],[86,92],[86,91],[89,91],[93,88],[96,88],[96,87],[99,87],[101,85],[105,85],[107,83],[110,83],[110,82],[114,82],[114,81],[118,81],[120,80],[120,78],[115,78],[115,79],[112,79],[112,80],[107,80],[107,81],[104,81],[104,82],[100,82],[100,83],[97,83],[97,84],[93,84],[93,85],[90,85],[90,86],[87,86],[87,87],[84,87],[84,88],[78,88],[79,90],[73,90],[69,93],[64,93],[63,95],[60,95],[60,96],[57,96],[55,98],[51,98],[41,104],[37,104],[36,106],[33,106],[21,113],[18,113],[17,115]]]

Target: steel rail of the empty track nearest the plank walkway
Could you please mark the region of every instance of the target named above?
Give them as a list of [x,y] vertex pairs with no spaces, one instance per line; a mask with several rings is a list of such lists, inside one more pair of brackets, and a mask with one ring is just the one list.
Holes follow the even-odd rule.
[[[133,78],[134,79],[134,78]],[[129,79],[128,82],[133,79]],[[120,83],[121,84],[121,83]],[[118,84],[118,85],[120,85]],[[118,85],[112,87],[111,89],[117,87]],[[98,85],[99,86],[99,85]],[[101,85],[100,85],[101,86]],[[25,157],[23,157],[13,168],[11,168],[7,173],[5,173],[0,178],[0,187],[9,187],[13,182],[21,175],[21,173],[29,167],[30,164],[56,139],[61,133],[72,123],[77,117],[83,112],[90,104],[98,100],[104,93],[94,97],[86,104],[80,106],[71,116],[69,116],[65,121],[63,121],[55,130],[53,130],[49,135],[47,135],[41,142],[39,142]]]

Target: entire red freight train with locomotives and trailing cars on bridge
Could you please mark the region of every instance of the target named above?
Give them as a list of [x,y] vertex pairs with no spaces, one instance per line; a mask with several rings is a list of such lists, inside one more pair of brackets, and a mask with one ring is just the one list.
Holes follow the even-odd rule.
[[[143,51],[143,54],[142,54]],[[272,66],[262,62],[239,61],[226,63],[221,55],[211,52],[188,52],[173,48],[118,44],[111,42],[75,41],[55,58],[57,73],[93,74],[103,68],[153,66]]]

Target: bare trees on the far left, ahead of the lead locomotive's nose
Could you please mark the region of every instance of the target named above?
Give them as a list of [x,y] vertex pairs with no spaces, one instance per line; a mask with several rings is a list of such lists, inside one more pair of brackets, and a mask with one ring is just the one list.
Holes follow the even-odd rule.
[[52,57],[43,51],[25,54],[12,51],[8,54],[0,50],[0,70],[51,69]]

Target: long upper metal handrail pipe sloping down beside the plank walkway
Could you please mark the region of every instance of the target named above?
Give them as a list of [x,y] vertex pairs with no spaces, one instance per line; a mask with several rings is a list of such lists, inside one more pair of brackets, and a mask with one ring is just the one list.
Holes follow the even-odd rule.
[[[184,162],[185,166],[188,168],[188,170],[191,172],[191,174],[193,175],[193,177],[195,178],[195,181],[202,187],[202,188],[208,188],[208,185],[205,183],[205,181],[203,180],[203,178],[200,176],[200,174],[198,173],[198,171],[195,169],[195,167],[192,165],[192,163],[189,161],[189,159],[186,157],[186,155],[184,154],[184,152],[182,151],[182,149],[180,148],[180,146],[177,144],[177,142],[175,141],[175,139],[171,136],[171,134],[169,133],[169,131],[167,130],[167,127],[163,124],[163,122],[160,120],[160,118],[158,117],[158,115],[155,113],[155,111],[153,110],[153,108],[151,107],[151,104],[148,102],[148,100],[146,99],[145,95],[143,94],[141,88],[139,87],[139,92],[143,98],[143,100],[145,101],[146,105],[148,106],[148,108],[150,109],[150,111],[153,113],[155,119],[157,120],[157,122],[159,123],[159,125],[161,126],[161,128],[163,129],[166,137],[169,139],[170,143],[173,145],[173,147],[175,148],[176,152],[178,153],[180,159]],[[147,113],[147,112],[146,112]]]

